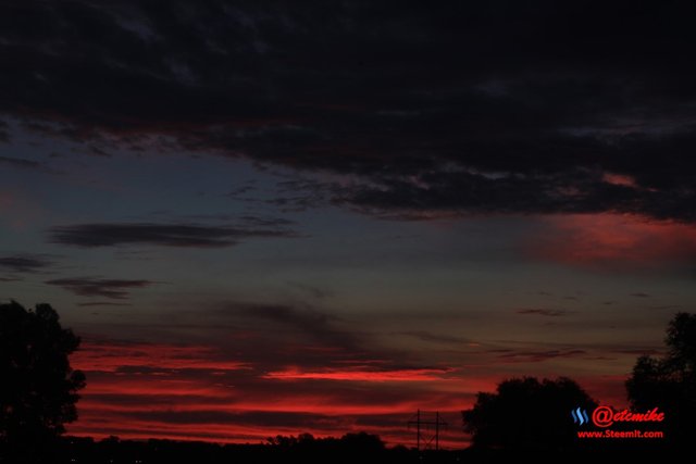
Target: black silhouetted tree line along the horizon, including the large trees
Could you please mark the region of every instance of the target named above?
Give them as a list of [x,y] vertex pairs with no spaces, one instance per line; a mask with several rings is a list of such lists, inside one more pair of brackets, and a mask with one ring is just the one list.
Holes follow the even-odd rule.
[[[0,304],[0,463],[58,463],[61,451],[63,457],[71,453],[92,453],[86,462],[95,463],[101,462],[97,455],[105,459],[104,462],[112,455],[110,462],[119,462],[113,459],[114,450],[127,449],[139,450],[128,454],[130,456],[153,450],[169,450],[178,457],[185,454],[182,450],[240,452],[238,447],[215,448],[210,443],[173,444],[149,440],[133,444],[117,439],[98,443],[90,439],[61,439],[64,425],[77,418],[78,391],[86,381],[85,375],[70,365],[70,355],[77,350],[79,341],[72,330],[61,326],[58,313],[48,304],[38,304],[33,310],[15,301]],[[666,354],[639,356],[625,383],[633,410],[645,412],[658,407],[666,417],[659,424],[664,439],[632,443],[634,452],[685,449],[696,431],[693,421],[696,417],[696,314],[678,313],[667,327],[664,342]],[[507,451],[577,453],[607,450],[614,444],[621,451],[617,443],[577,439],[577,421],[570,419],[571,411],[579,407],[592,411],[597,405],[597,401],[570,378],[504,380],[495,392],[480,392],[474,405],[462,411],[463,428],[472,436],[470,455]],[[387,452],[380,438],[369,434],[347,434],[340,439],[314,439],[309,434],[275,437],[269,439],[265,447],[248,446],[245,450],[257,457],[289,452],[303,456],[306,462],[313,462],[310,456],[320,456],[318,462],[323,462],[330,454],[334,462],[365,461],[366,456],[386,457]],[[388,461],[398,457],[400,462],[408,462],[412,456],[403,447],[388,452]],[[443,462],[458,459],[451,453],[438,454]],[[422,455],[418,460],[422,461]]]

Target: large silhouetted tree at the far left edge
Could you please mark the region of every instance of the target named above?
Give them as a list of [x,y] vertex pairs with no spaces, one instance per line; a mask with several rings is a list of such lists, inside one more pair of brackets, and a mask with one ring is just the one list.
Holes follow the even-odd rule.
[[0,461],[38,462],[77,418],[85,376],[70,366],[79,338],[48,304],[0,304]]

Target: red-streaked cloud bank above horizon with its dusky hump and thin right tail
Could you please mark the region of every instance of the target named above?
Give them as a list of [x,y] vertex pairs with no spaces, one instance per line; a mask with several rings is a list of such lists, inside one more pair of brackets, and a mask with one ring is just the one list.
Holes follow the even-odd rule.
[[[418,330],[396,334],[425,342],[405,350],[360,330],[359,321],[281,303],[201,304],[161,321],[156,330],[169,341],[145,341],[141,328],[127,325],[116,338],[85,336],[72,362],[88,383],[71,432],[259,442],[276,434],[368,430],[410,443],[405,424],[419,409],[455,423],[476,392],[502,378],[555,376],[571,360],[594,372],[638,353],[621,344],[473,342]],[[607,385],[623,388],[623,377],[582,380],[600,398]],[[461,447],[467,437],[455,429],[444,440]]]

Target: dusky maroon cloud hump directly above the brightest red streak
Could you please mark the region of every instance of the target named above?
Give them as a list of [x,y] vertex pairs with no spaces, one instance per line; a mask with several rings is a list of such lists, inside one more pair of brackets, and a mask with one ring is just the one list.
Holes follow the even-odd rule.
[[225,352],[245,353],[245,361],[271,371],[425,368],[412,353],[380,343],[364,321],[345,319],[321,306],[231,300],[192,308],[172,313],[172,322],[184,330],[202,323],[208,339],[214,337]]

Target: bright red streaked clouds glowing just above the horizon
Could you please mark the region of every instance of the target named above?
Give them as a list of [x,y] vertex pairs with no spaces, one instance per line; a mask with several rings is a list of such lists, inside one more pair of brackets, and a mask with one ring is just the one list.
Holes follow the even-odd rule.
[[[384,359],[271,368],[227,360],[208,346],[89,340],[73,360],[75,368],[87,371],[88,381],[79,419],[69,431],[96,438],[260,442],[275,435],[365,430],[390,444],[410,444],[414,437],[406,424],[421,410],[439,411],[449,422],[444,446],[463,447],[468,437],[456,424],[477,391],[494,391],[501,376],[517,372],[517,362],[582,358],[572,351],[527,351],[512,352],[512,359],[481,353],[486,368],[457,371],[409,368]],[[495,375],[488,368],[494,365]],[[593,380],[588,385],[600,390],[602,383]]]

